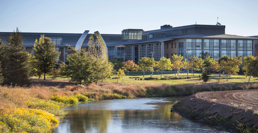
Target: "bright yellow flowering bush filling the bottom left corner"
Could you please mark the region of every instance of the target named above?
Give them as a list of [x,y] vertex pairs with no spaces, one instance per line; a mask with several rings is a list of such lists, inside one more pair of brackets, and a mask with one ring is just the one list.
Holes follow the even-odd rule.
[[0,115],[0,127],[5,133],[50,133],[58,123],[53,114],[37,109],[16,108]]

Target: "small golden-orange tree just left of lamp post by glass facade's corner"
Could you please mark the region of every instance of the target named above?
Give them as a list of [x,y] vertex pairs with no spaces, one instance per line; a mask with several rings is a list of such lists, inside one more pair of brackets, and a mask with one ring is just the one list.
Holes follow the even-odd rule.
[[[184,56],[181,56],[181,54],[179,56],[177,55],[173,55],[171,57],[171,60],[172,60],[172,65],[171,67],[173,69],[176,69],[177,71],[177,76],[179,76],[179,71],[184,68],[184,66],[187,64],[187,59],[185,59],[184,61],[182,61],[182,59],[184,59]],[[176,75],[176,74],[175,74]]]

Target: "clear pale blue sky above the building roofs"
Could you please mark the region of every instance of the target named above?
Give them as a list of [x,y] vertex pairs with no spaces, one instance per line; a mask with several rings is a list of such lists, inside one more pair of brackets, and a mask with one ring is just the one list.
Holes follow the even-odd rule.
[[3,0],[0,32],[121,34],[162,25],[226,26],[230,35],[258,35],[258,0]]

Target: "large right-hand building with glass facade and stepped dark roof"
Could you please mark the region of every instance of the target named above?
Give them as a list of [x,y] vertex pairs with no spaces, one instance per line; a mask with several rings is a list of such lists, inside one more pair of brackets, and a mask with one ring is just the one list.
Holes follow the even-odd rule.
[[[142,39],[114,43],[107,47],[108,49],[121,49],[125,52],[121,54],[134,62],[138,62],[145,56],[153,56],[155,60],[158,60],[163,56],[171,58],[173,54],[181,54],[185,59],[187,51],[188,57],[201,57],[202,53],[208,52],[214,60],[217,60],[224,55],[230,57],[254,55],[257,39],[225,34],[224,25],[181,27],[163,25],[158,30],[145,31]],[[109,51],[109,55],[118,57],[115,54],[115,51]]]

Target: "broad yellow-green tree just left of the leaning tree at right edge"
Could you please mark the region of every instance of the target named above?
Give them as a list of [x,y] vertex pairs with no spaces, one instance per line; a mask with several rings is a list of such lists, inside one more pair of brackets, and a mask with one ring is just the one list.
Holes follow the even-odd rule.
[[237,75],[237,72],[239,72],[239,65],[242,64],[241,59],[242,59],[242,57],[238,56],[238,57],[232,58],[228,61],[222,60],[220,62],[221,66],[222,66],[222,70],[224,71],[224,73],[227,74],[227,81],[228,81],[228,77],[230,74]]

